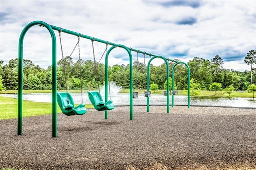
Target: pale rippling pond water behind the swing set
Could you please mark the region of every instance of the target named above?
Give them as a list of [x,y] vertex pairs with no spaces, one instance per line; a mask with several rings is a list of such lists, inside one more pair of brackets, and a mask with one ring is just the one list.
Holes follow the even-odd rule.
[[[1,96],[17,98],[17,94],[0,94]],[[71,93],[75,103],[81,103],[81,93]],[[104,94],[102,94],[104,95]],[[104,96],[102,96],[104,99]],[[51,93],[30,93],[23,94],[24,100],[36,102],[52,102]],[[111,100],[115,105],[130,105],[130,95],[118,93],[111,96]],[[166,96],[154,95],[150,97],[150,105],[166,105]],[[83,93],[83,103],[90,103],[87,93]],[[139,94],[137,99],[133,99],[133,105],[146,105],[147,98],[143,94]],[[169,104],[172,104],[172,95],[169,97]],[[188,105],[188,96],[174,95],[174,105]],[[242,97],[193,97],[190,99],[190,105],[206,105],[206,106],[232,106],[232,107],[256,107],[256,100],[252,98]]]

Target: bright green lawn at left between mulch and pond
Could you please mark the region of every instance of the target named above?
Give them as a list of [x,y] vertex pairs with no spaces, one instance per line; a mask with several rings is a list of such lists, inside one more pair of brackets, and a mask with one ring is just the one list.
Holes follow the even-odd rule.
[[[86,104],[85,108],[92,108],[91,104]],[[18,99],[0,96],[0,120],[13,119],[18,117]],[[61,113],[57,105],[57,113]],[[52,114],[52,103],[42,103],[23,100],[22,117]]]

